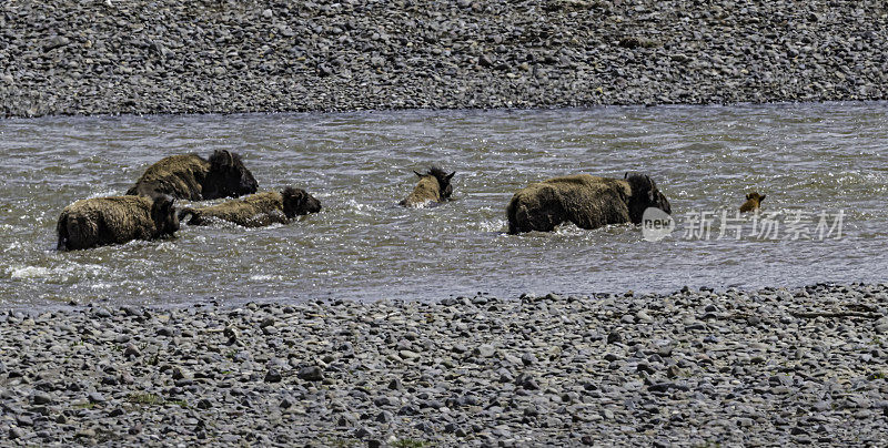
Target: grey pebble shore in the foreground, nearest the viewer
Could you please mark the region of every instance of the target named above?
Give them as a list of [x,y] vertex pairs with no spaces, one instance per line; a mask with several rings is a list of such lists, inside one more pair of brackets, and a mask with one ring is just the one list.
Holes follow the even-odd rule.
[[888,437],[888,284],[0,316],[6,444]]

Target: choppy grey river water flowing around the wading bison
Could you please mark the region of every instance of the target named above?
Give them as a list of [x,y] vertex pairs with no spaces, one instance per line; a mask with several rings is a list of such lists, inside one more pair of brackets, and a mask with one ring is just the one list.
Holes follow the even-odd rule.
[[[0,120],[0,305],[885,282],[887,145],[885,103]],[[261,190],[294,184],[324,211],[284,226],[183,225],[172,241],[53,250],[65,205],[122,194],[162,156],[214,149],[240,152]],[[412,170],[433,162],[457,172],[455,201],[396,207]],[[670,237],[648,242],[628,225],[502,234],[508,200],[528,183],[629,170],[670,198]],[[767,194],[767,212],[844,210],[842,238],[716,238],[718,223],[709,241],[686,237],[693,213],[736,210],[751,190]]]

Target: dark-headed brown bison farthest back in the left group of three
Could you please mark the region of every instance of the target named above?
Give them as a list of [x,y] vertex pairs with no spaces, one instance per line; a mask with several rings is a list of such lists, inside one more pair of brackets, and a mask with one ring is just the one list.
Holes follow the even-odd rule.
[[169,194],[189,201],[238,197],[255,193],[259,185],[241,156],[216,150],[205,160],[198,154],[171,155],[145,170],[128,195]]

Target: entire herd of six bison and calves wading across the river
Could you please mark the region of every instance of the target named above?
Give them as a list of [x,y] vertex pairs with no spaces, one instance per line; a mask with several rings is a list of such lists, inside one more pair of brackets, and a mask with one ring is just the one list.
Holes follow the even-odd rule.
[[[430,207],[450,201],[455,172],[447,174],[432,166],[425,174],[414,173],[418,182],[398,205]],[[196,154],[164,157],[149,166],[125,196],[81,200],[64,207],[57,225],[58,250],[169,237],[179,230],[180,220],[189,216],[189,225],[219,220],[260,227],[286,224],[296,216],[321,211],[321,202],[302,189],[286,186],[256,193],[258,189],[240,155],[230,151],[214,151],[209,160]],[[179,210],[174,206],[175,200],[222,197],[234,200]],[[765,196],[749,193],[746,198],[741,212],[757,210]],[[576,174],[518,191],[506,207],[506,217],[509,234],[549,232],[565,222],[592,230],[609,224],[640,224],[649,207],[672,214],[669,201],[646,174],[626,173],[623,179]]]

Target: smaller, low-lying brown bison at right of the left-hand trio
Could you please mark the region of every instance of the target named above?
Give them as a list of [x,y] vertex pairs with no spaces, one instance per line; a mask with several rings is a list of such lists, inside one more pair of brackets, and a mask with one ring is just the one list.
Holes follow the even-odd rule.
[[317,213],[321,202],[305,190],[287,186],[279,192],[251,194],[208,207],[183,207],[179,218],[191,215],[189,225],[206,225],[209,218],[232,222],[244,227],[262,227],[274,223],[286,224],[297,215]]

